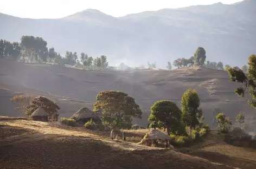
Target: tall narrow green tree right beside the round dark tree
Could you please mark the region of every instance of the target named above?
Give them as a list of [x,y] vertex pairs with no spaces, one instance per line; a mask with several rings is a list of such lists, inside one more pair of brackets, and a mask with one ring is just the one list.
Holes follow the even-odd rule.
[[195,129],[200,124],[200,120],[203,119],[202,109],[199,109],[200,99],[195,89],[188,89],[183,93],[181,99],[182,121],[191,130]]

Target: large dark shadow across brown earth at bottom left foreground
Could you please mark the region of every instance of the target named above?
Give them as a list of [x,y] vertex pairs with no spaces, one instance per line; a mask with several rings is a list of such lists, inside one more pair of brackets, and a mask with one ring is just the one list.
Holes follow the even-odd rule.
[[125,151],[89,138],[47,138],[0,146],[0,168],[229,168],[170,151]]

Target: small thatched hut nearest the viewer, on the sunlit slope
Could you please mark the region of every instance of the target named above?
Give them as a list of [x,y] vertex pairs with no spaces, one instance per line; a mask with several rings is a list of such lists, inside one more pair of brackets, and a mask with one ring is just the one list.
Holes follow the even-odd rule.
[[[170,147],[170,137],[167,134],[164,134],[163,132],[159,131],[158,129],[152,129],[149,133],[146,133],[142,141],[140,141],[138,144],[143,144],[146,146],[163,146],[165,148]],[[171,146],[173,147],[173,146]]]

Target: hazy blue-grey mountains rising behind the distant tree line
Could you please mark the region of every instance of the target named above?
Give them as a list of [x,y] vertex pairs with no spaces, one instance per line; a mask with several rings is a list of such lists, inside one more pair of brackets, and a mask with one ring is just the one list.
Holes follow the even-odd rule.
[[[162,9],[112,17],[87,9],[59,19],[29,19],[0,14],[0,38],[43,37],[61,54],[66,50],[108,56],[129,66],[193,56],[199,46],[207,60],[242,66],[255,53],[255,0]],[[18,29],[17,29],[18,28]],[[157,56],[157,58],[156,58]]]

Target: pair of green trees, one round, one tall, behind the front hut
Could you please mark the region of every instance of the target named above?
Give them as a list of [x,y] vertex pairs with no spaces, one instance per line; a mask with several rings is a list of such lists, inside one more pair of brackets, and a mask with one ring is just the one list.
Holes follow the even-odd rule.
[[186,135],[186,127],[190,128],[190,137],[192,129],[202,127],[203,120],[200,98],[196,90],[188,89],[182,95],[181,109],[176,103],[169,100],[155,102],[151,108],[149,121],[153,128],[167,128],[168,134]]

